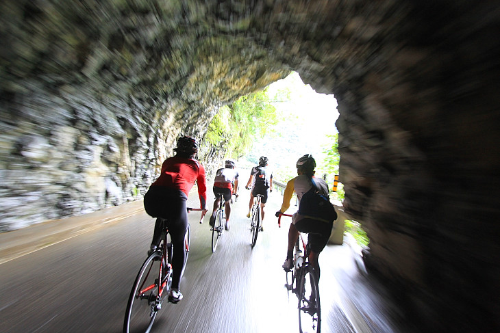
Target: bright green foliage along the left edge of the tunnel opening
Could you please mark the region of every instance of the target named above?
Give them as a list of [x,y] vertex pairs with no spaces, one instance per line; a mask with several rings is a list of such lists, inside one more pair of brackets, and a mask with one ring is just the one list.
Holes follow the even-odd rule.
[[276,108],[264,89],[221,107],[208,126],[205,139],[212,146],[225,148],[225,157],[238,159],[249,152],[255,137],[272,133],[277,122]]

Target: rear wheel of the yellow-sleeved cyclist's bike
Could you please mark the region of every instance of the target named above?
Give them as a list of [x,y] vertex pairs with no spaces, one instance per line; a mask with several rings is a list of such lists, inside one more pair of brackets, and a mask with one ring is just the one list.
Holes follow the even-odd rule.
[[321,304],[319,298],[318,280],[316,272],[311,266],[303,268],[299,290],[299,332],[321,332]]

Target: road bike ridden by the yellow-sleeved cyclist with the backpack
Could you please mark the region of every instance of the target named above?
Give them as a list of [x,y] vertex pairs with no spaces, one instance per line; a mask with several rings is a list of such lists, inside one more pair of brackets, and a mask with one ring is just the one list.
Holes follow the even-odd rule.
[[[281,227],[280,214],[278,225]],[[319,300],[318,277],[316,271],[309,263],[310,248],[305,244],[302,234],[295,243],[293,254],[293,268],[286,271],[285,287],[297,296],[299,304],[299,332],[321,332],[321,305]]]

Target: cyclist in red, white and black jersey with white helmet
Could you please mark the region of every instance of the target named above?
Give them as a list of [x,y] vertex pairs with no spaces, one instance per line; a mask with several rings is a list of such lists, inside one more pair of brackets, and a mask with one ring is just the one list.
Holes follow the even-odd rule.
[[210,226],[215,224],[215,213],[218,209],[218,205],[221,202],[221,197],[218,196],[222,194],[225,202],[225,214],[226,214],[226,230],[229,228],[229,215],[231,215],[231,197],[233,194],[238,196],[238,171],[234,170],[236,163],[232,159],[225,161],[225,168],[217,170],[214,179],[214,211],[210,216]]

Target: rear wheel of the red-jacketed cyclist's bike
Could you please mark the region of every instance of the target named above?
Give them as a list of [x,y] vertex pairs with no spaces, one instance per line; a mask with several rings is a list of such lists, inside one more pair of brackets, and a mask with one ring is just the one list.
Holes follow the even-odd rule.
[[124,333],[147,333],[151,330],[158,311],[158,273],[161,262],[162,254],[157,251],[142,264],[127,303]]

